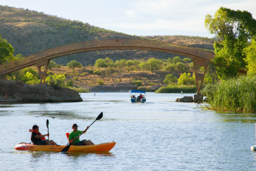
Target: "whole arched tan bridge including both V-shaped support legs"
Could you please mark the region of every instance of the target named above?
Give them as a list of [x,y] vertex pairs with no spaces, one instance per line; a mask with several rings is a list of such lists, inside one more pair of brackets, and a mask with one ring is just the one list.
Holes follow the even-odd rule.
[[[203,84],[208,63],[211,59],[214,59],[215,56],[213,53],[191,48],[189,46],[161,41],[136,39],[97,40],[57,46],[55,48],[43,50],[24,58],[14,60],[10,63],[2,64],[0,65],[0,75],[8,74],[28,66],[36,65],[40,74],[41,83],[45,83],[45,77],[51,59],[71,55],[74,53],[98,50],[149,50],[173,53],[175,55],[192,58],[195,69],[198,94],[200,94],[200,88]],[[204,66],[205,72],[203,75],[198,75],[196,73],[197,65]],[[45,66],[44,71],[41,71],[42,66]]]

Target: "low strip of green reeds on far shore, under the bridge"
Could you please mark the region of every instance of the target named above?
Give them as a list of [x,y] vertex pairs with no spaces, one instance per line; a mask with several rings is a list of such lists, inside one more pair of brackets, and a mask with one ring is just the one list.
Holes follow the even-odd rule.
[[194,85],[169,85],[169,86],[163,86],[160,87],[158,90],[155,91],[155,93],[196,93],[197,92],[197,86]]

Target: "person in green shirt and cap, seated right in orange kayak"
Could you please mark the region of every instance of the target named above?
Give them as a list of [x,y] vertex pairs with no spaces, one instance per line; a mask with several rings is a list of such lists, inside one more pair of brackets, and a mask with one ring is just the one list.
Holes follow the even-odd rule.
[[[69,136],[68,136],[68,142],[69,143],[72,143],[73,141],[75,141],[75,138],[77,138],[76,139],[76,141],[73,143],[73,145],[95,145],[94,143],[92,143],[90,140],[86,140],[86,139],[83,139],[82,141],[80,141],[80,139],[79,139],[79,135],[83,132],[83,131],[81,131],[81,130],[77,130],[78,128],[77,128],[78,126],[76,125],[76,123],[74,123],[73,125],[72,125],[72,129],[73,129],[73,131],[69,134]],[[87,129],[89,129],[89,127],[87,127]],[[87,130],[86,130],[87,131]],[[84,131],[84,133],[86,133],[86,131]],[[83,133],[83,134],[84,134]]]

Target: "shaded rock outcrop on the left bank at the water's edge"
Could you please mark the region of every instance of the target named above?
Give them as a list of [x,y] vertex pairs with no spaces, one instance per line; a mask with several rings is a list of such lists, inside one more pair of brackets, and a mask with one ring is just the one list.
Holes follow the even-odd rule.
[[[7,95],[7,96],[6,96]],[[5,97],[6,96],[6,97]],[[0,102],[82,102],[75,90],[0,79]]]

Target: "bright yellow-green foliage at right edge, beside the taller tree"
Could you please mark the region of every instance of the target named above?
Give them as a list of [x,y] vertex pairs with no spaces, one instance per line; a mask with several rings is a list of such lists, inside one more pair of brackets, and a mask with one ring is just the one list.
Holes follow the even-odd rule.
[[248,74],[256,75],[256,41],[252,40],[250,45],[244,49],[246,55],[245,61],[247,62]]

